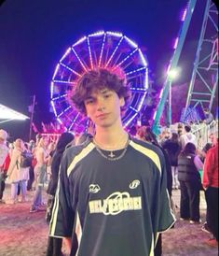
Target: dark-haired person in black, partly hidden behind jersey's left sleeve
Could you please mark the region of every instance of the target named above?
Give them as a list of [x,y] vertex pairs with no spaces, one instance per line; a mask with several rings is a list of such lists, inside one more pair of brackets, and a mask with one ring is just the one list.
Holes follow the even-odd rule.
[[[51,178],[48,183],[48,206],[46,220],[49,223],[51,219],[51,212],[54,205],[54,196],[56,193],[59,177],[60,163],[62,153],[65,147],[74,140],[74,135],[70,133],[63,133],[57,143],[56,149],[51,160]],[[60,256],[62,255],[62,238],[48,237],[48,250],[47,256]]]

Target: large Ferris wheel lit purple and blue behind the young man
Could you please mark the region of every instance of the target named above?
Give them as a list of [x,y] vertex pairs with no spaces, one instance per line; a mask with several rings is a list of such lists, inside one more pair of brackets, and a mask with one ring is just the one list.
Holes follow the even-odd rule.
[[148,68],[138,45],[117,32],[100,31],[83,36],[65,51],[50,83],[50,103],[57,121],[66,131],[81,133],[88,126],[88,118],[73,106],[71,94],[76,80],[96,67],[122,70],[130,84],[131,100],[122,119],[124,127],[129,128],[136,121],[143,107],[148,87]]

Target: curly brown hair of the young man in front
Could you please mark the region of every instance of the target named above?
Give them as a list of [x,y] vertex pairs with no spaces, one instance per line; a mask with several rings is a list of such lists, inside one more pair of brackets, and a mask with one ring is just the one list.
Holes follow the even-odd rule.
[[121,107],[121,110],[125,111],[130,103],[130,87],[125,78],[120,78],[118,74],[105,68],[89,70],[77,80],[72,95],[74,106],[86,114],[84,101],[89,98],[91,92],[103,88],[116,92],[119,98],[124,97],[125,106]]

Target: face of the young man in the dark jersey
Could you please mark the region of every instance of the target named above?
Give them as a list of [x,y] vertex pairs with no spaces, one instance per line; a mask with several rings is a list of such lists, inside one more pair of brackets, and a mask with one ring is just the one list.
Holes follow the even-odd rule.
[[87,116],[96,126],[111,127],[120,120],[120,107],[124,106],[124,98],[119,98],[117,93],[103,88],[91,92],[84,101]]

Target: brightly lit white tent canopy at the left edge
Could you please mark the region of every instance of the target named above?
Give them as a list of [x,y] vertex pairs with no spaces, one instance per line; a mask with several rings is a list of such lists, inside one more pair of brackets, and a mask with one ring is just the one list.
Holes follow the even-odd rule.
[[[21,114],[18,111],[15,111],[9,107],[6,107],[2,104],[0,104],[0,123],[6,122],[6,121],[12,121],[12,120],[27,120],[29,117]],[[3,120],[3,121],[1,121]]]

